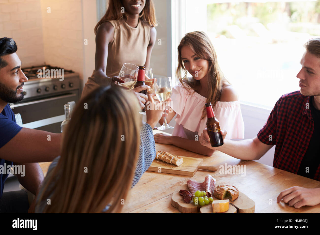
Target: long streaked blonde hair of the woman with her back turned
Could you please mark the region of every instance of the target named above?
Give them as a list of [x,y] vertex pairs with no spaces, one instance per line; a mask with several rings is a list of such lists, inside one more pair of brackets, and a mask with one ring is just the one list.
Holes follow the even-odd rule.
[[121,211],[139,154],[142,122],[135,100],[131,92],[109,86],[78,102],[58,165],[44,180],[38,201],[45,202],[43,212],[99,213],[108,204],[107,212]]

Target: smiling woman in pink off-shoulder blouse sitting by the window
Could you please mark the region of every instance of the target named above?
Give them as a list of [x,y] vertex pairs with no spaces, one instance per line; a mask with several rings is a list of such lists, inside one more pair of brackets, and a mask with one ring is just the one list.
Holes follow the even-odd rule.
[[[213,45],[204,32],[186,34],[178,46],[178,53],[176,76],[179,84],[172,89],[172,103],[167,116],[167,122],[170,122],[177,114],[176,125],[172,136],[156,134],[154,138],[156,143],[172,144],[211,156],[214,150],[198,141],[198,135],[206,128],[204,105],[212,103],[220,128],[228,130],[226,138],[244,138],[244,122],[238,94],[224,78]],[[187,72],[192,75],[191,78],[187,78]],[[160,124],[162,122],[163,119],[159,121]]]

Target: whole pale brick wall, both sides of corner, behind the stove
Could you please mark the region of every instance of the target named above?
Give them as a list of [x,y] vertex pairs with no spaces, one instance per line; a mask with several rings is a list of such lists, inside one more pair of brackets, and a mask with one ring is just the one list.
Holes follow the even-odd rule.
[[0,0],[4,36],[16,41],[23,67],[45,62],[79,72],[83,79],[81,0]]

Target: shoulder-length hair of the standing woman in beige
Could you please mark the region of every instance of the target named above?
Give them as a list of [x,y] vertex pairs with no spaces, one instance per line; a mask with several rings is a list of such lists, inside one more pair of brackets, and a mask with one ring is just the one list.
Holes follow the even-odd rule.
[[[97,34],[98,27],[108,21],[108,20],[126,20],[128,19],[128,14],[126,12],[122,13],[121,7],[124,7],[120,0],[109,0],[109,6],[106,14],[101,18],[96,27],[94,27],[94,33]],[[156,10],[153,4],[153,0],[146,0],[146,5],[141,11],[139,18],[146,22],[150,27],[156,27]]]

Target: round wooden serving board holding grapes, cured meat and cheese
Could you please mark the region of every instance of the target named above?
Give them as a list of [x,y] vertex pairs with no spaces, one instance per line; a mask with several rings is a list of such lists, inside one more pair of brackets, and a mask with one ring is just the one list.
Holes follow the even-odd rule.
[[[213,213],[212,211],[212,204],[209,203],[203,207],[196,206],[193,204],[193,201],[190,203],[185,203],[183,198],[180,196],[179,191],[180,189],[188,189],[187,184],[183,184],[172,194],[171,205],[182,213]],[[213,197],[214,200],[219,200]],[[255,203],[252,199],[250,199],[247,195],[242,192],[239,192],[239,197],[229,204],[229,209],[223,213],[253,213],[255,208]]]

